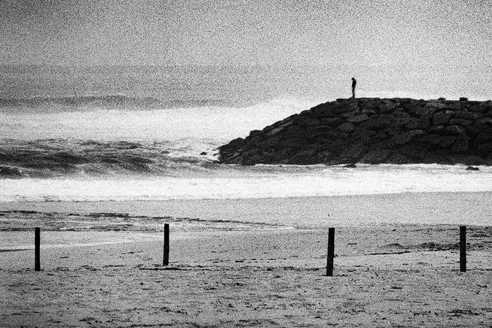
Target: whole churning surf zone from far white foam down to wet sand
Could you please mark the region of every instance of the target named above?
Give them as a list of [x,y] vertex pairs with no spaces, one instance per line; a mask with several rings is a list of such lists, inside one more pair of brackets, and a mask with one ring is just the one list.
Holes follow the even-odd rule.
[[[14,158],[8,166],[20,166],[23,154],[35,155],[38,166],[42,166],[29,166],[34,159],[22,159],[25,167],[38,170],[38,178],[1,178],[0,202],[492,191],[492,168],[486,166],[480,171],[443,165],[240,167],[219,166],[198,156],[206,151],[212,159],[214,147],[315,104],[299,98],[278,98],[242,108],[0,112],[1,138],[6,140],[3,151]],[[40,141],[48,138],[59,140]],[[84,140],[103,143],[92,145]],[[138,145],[123,149],[115,143],[117,140]],[[13,152],[8,152],[8,147]],[[25,153],[27,150],[30,152]],[[126,165],[127,159],[133,166]],[[84,169],[103,173],[80,174]]]

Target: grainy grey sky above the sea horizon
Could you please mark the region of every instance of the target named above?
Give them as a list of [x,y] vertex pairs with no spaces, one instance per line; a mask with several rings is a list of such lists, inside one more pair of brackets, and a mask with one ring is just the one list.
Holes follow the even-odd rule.
[[1,0],[0,63],[492,64],[492,0]]

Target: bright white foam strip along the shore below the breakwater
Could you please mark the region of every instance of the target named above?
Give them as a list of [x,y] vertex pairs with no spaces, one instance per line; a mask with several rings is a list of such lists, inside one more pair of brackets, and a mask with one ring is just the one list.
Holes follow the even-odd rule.
[[490,192],[492,169],[465,166],[377,165],[346,169],[269,166],[207,177],[0,180],[0,202],[167,199],[246,199],[374,195],[401,192]]

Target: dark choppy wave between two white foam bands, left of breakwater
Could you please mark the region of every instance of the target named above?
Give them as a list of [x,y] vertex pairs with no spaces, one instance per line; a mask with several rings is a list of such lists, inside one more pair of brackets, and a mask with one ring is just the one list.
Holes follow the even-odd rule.
[[0,178],[183,176],[216,165],[213,154],[193,154],[181,141],[0,140]]

